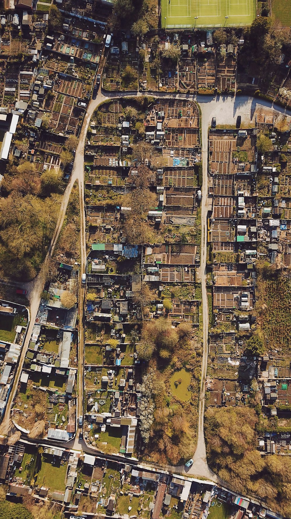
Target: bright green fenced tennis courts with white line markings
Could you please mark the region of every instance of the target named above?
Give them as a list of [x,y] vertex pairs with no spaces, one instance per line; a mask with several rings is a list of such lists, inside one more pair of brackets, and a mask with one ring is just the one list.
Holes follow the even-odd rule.
[[256,0],[161,0],[161,2],[163,29],[239,27],[250,25],[256,16]]

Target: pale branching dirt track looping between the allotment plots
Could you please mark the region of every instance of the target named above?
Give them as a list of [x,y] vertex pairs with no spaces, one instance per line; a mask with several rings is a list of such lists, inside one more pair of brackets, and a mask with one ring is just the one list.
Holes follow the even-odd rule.
[[[154,95],[157,98],[170,98],[170,99],[184,99],[194,100],[199,103],[201,108],[201,130],[202,130],[202,168],[203,168],[203,185],[202,185],[202,201],[201,201],[201,285],[202,285],[202,312],[203,312],[203,356],[201,364],[201,384],[199,393],[199,418],[198,418],[198,439],[197,448],[194,454],[194,463],[190,469],[185,471],[184,466],[172,467],[168,466],[167,470],[171,472],[182,472],[192,476],[205,477],[209,480],[220,482],[218,477],[209,469],[206,459],[206,446],[204,438],[203,428],[203,415],[205,408],[205,379],[207,374],[207,363],[208,363],[208,301],[206,291],[206,251],[207,251],[207,214],[208,214],[208,129],[211,125],[212,117],[216,117],[217,125],[235,125],[236,118],[238,115],[241,116],[242,125],[248,125],[250,122],[255,126],[255,115],[256,113],[266,110],[270,110],[270,113],[277,115],[288,115],[291,116],[291,112],[284,110],[280,106],[274,106],[272,103],[265,100],[257,100],[246,96],[223,96],[208,97],[203,95],[189,95],[189,94],[168,94],[164,92],[147,92],[147,94]],[[5,430],[9,428],[10,412],[13,402],[14,395],[17,390],[20,373],[23,366],[25,354],[30,342],[30,336],[32,333],[33,325],[37,315],[37,310],[40,303],[40,295],[43,290],[43,286],[46,281],[46,272],[49,260],[52,256],[57,238],[59,237],[62,229],[67,204],[71,189],[75,182],[78,182],[79,186],[79,200],[80,200],[80,243],[81,243],[81,273],[85,270],[86,265],[86,236],[85,236],[85,204],[84,204],[84,146],[86,141],[86,133],[90,123],[90,119],[93,115],[94,110],[98,105],[108,99],[117,97],[128,97],[141,95],[139,92],[108,92],[104,94],[100,91],[95,100],[91,100],[88,105],[86,115],[84,117],[83,126],[79,136],[79,143],[76,149],[74,168],[72,170],[71,179],[65,190],[59,219],[56,224],[55,232],[51,241],[50,248],[48,250],[45,262],[35,280],[31,283],[27,283],[26,288],[28,291],[28,297],[31,304],[31,322],[28,326],[25,343],[22,349],[19,366],[16,377],[14,379],[13,388],[10,393],[8,404],[6,407],[5,415],[1,425],[2,434],[6,434]],[[80,276],[81,280],[81,276]],[[84,301],[84,289],[82,288],[81,281],[79,285],[79,351],[78,351],[78,415],[83,414],[83,301]],[[96,449],[86,446],[83,440],[79,439],[80,430],[76,434],[74,442],[70,442],[71,447],[76,450],[84,450],[91,454],[98,453]],[[67,447],[69,444],[67,444]],[[122,456],[114,456],[114,459],[124,460]],[[137,462],[133,460],[133,464]],[[150,464],[149,464],[150,465]],[[157,468],[157,466],[156,466]],[[161,470],[165,469],[160,467]]]

